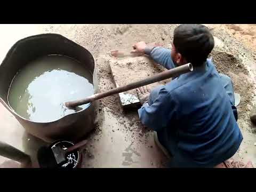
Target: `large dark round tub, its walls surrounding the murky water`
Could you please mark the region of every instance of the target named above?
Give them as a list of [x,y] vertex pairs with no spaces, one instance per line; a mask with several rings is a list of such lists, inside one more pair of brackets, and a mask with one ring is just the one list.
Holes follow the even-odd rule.
[[0,102],[18,119],[25,130],[35,137],[46,142],[58,139],[77,141],[94,128],[97,102],[92,102],[88,108],[74,114],[46,123],[29,121],[19,116],[7,102],[9,86],[17,71],[31,60],[49,54],[66,55],[79,61],[93,74],[94,93],[97,93],[98,78],[92,54],[59,34],[41,34],[21,39],[7,53],[0,65]]

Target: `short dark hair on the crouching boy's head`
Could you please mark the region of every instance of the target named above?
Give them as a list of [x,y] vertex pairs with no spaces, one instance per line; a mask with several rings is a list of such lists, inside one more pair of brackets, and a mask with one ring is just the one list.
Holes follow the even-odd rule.
[[194,66],[202,65],[214,47],[210,30],[199,24],[183,24],[175,28],[173,44],[178,53]]

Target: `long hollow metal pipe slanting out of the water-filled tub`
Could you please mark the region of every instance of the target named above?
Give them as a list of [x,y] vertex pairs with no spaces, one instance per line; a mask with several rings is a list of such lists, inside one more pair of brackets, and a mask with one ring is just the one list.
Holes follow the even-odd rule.
[[124,86],[119,86],[115,89],[106,91],[105,93],[97,93],[97,94],[93,94],[85,99],[66,102],[66,106],[67,107],[77,107],[77,106],[84,105],[86,103],[89,103],[89,102],[92,102],[92,101],[95,101],[98,99],[108,97],[113,94],[129,91],[129,90],[132,90],[132,89],[144,86],[144,85],[148,85],[151,83],[159,82],[164,79],[171,78],[171,77],[174,77],[174,76],[177,76],[180,74],[188,73],[190,71],[193,71],[193,66],[191,63],[187,63],[186,65],[175,67],[173,69],[163,71],[162,73],[159,73],[157,75],[147,77],[145,79],[142,79],[141,81],[133,82],[133,83],[130,83],[130,84],[124,85]]

